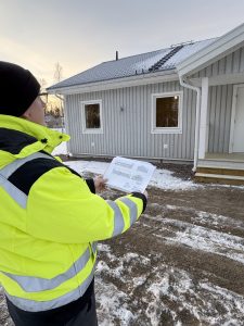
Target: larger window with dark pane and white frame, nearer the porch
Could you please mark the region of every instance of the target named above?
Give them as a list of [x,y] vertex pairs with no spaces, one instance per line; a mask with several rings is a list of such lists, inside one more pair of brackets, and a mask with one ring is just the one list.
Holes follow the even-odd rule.
[[182,92],[152,95],[152,133],[182,133]]

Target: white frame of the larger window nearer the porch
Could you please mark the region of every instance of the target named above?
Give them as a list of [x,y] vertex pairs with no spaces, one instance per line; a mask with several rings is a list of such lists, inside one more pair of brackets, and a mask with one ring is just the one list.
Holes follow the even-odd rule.
[[[178,126],[177,127],[156,127],[156,99],[158,98],[171,98],[179,97],[178,108]],[[182,104],[183,104],[183,91],[170,91],[152,93],[152,128],[151,134],[182,134]]]

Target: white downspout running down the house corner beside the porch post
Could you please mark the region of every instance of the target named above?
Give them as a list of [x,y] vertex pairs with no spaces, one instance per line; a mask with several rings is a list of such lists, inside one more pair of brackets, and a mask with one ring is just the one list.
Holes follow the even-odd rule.
[[200,145],[200,108],[201,108],[201,88],[187,84],[183,76],[180,76],[180,85],[196,91],[196,108],[195,108],[195,147],[194,147],[194,164],[192,171],[196,171],[198,160],[198,145]]

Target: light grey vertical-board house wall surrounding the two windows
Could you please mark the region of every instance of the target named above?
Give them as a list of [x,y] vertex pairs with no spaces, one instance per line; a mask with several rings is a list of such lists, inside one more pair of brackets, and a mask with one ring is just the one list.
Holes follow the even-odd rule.
[[[182,90],[179,82],[67,96],[70,153],[192,160],[196,104],[192,90],[183,90],[182,134],[151,134],[152,93],[175,90]],[[80,101],[99,99],[102,100],[103,134],[82,134]]]

